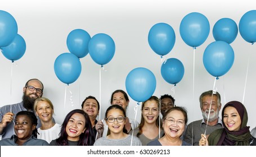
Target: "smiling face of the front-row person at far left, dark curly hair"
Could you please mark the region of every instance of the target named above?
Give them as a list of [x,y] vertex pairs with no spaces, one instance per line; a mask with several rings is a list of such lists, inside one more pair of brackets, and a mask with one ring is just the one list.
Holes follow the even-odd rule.
[[14,130],[19,140],[28,140],[36,127],[26,115],[19,115],[15,119]]

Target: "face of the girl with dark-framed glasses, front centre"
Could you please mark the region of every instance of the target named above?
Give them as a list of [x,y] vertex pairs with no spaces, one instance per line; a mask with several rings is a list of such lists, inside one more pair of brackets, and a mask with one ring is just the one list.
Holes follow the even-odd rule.
[[[109,112],[107,113],[107,118],[118,118],[118,117],[124,117],[124,114],[122,112],[122,110],[120,109],[110,109]],[[123,133],[123,128],[125,125],[125,119],[123,122],[118,122],[116,119],[113,123],[110,123],[108,121],[106,121],[107,126],[109,127],[109,130],[111,133],[114,134],[119,134],[119,133]]]

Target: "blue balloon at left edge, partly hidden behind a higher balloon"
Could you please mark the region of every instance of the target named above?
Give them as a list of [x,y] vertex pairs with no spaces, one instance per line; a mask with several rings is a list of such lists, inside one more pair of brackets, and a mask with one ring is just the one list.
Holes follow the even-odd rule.
[[22,36],[17,34],[11,44],[1,49],[3,56],[14,62],[23,57],[26,51],[26,42]]

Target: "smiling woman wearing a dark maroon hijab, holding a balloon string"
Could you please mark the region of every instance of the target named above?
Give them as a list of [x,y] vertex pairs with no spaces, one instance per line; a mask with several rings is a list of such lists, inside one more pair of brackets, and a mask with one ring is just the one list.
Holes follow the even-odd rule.
[[230,101],[222,109],[222,123],[224,128],[205,135],[199,141],[200,146],[255,146],[256,138],[251,136],[247,126],[248,114],[242,103]]

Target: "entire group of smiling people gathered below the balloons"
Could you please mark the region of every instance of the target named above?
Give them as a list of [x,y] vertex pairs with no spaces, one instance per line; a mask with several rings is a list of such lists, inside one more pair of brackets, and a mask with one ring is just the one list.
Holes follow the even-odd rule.
[[96,119],[100,104],[87,96],[80,109],[71,110],[62,124],[53,118],[52,102],[43,98],[43,84],[28,80],[23,101],[0,108],[1,146],[208,146],[256,145],[256,127],[249,130],[248,114],[239,101],[224,105],[221,95],[200,95],[203,119],[188,122],[187,110],[171,95],[151,96],[141,106],[141,122],[126,115],[129,97],[123,90],[111,94],[104,119]]

